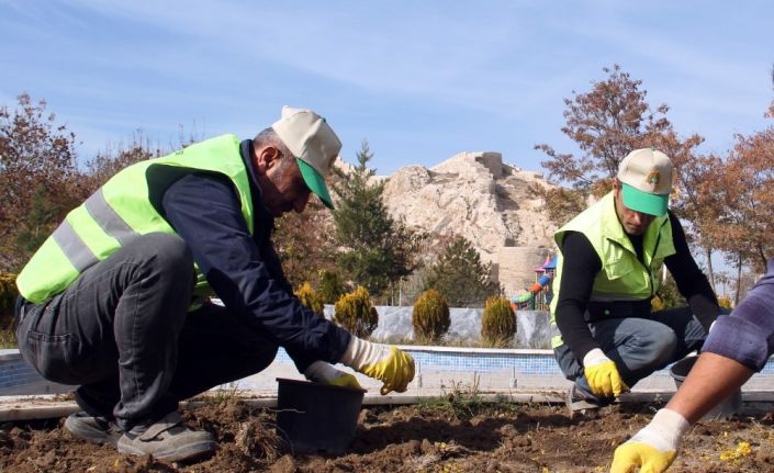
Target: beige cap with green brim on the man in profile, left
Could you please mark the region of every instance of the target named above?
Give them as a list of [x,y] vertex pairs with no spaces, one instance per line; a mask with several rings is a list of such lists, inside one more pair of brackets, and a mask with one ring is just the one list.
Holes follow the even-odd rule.
[[271,127],[295,157],[301,176],[310,190],[328,209],[334,209],[325,183],[341,142],[325,119],[311,110],[282,108],[282,116]]

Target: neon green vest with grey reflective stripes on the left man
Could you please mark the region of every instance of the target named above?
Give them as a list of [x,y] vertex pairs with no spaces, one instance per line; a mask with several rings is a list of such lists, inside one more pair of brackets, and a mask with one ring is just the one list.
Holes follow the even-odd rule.
[[[242,215],[254,233],[249,173],[239,153],[239,139],[223,135],[193,144],[161,158],[127,167],[113,176],[43,243],[16,278],[24,299],[40,304],[63,292],[78,275],[127,241],[149,233],[175,234],[158,213],[166,189],[191,172],[226,176],[239,194]],[[197,268],[198,295],[210,295]]]

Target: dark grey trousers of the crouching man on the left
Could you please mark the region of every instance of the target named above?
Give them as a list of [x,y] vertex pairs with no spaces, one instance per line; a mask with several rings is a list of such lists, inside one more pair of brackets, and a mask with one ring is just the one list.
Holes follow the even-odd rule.
[[193,259],[178,236],[148,234],[86,270],[42,304],[22,304],[22,357],[47,380],[79,385],[76,399],[123,428],[257,373],[277,345],[223,306],[188,312]]

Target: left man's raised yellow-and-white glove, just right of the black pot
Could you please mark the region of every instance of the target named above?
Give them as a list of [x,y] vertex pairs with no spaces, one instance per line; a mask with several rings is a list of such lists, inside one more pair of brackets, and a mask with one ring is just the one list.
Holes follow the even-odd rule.
[[352,336],[341,363],[384,383],[382,395],[395,391],[403,393],[414,379],[414,359],[397,347],[372,344]]

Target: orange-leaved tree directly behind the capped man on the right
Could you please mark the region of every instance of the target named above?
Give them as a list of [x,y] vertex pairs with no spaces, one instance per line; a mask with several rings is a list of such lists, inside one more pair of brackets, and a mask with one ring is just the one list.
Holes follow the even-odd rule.
[[562,132],[583,154],[560,154],[546,144],[536,146],[548,156],[541,164],[549,177],[570,188],[534,192],[543,198],[548,217],[561,225],[583,211],[590,196],[598,198],[610,190],[620,160],[631,149],[658,148],[677,169],[672,207],[688,221],[688,237],[703,248],[715,288],[711,255],[718,247],[710,227],[717,225],[720,203],[704,189],[715,179],[719,159],[696,153],[704,142],[702,136],[677,136],[666,119],[669,106],[651,109],[642,81],[632,79],[618,65],[603,70],[608,75],[605,80],[593,82],[588,92],[573,91],[574,97],[564,100],[567,123]]

